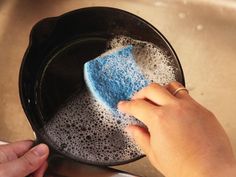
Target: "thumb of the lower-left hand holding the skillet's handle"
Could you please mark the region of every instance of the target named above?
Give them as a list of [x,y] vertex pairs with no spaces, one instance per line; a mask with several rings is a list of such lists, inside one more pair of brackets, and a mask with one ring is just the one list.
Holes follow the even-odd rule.
[[22,157],[2,164],[5,176],[24,177],[36,171],[47,159],[49,149],[45,144],[39,144]]

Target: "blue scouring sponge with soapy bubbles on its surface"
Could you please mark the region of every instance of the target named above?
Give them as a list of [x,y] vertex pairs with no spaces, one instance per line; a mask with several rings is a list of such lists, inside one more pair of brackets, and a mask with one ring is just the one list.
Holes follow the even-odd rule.
[[93,96],[111,111],[120,100],[148,85],[132,54],[131,45],[90,60],[84,65],[84,78]]

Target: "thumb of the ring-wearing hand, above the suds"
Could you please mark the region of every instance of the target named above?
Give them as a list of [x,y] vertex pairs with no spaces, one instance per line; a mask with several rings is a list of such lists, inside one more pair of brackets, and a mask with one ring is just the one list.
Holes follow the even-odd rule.
[[136,125],[130,125],[125,130],[144,153],[148,155],[150,152],[150,134],[148,130]]

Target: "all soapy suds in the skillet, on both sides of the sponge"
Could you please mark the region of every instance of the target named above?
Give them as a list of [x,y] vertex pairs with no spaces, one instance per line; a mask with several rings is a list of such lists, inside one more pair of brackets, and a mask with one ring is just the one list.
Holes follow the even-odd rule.
[[[112,49],[133,45],[136,63],[151,82],[175,80],[175,69],[165,52],[152,43],[117,36]],[[119,164],[143,155],[125,132],[128,125],[144,126],[131,116],[115,116],[85,88],[75,94],[44,126],[46,136],[67,156],[96,164]]]

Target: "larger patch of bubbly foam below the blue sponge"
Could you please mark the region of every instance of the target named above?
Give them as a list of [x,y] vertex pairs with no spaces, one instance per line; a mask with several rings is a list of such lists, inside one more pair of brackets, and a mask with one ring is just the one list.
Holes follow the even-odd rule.
[[67,102],[44,130],[62,153],[80,160],[112,164],[142,154],[124,131],[130,124],[142,125],[128,116],[117,119],[84,90]]

